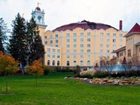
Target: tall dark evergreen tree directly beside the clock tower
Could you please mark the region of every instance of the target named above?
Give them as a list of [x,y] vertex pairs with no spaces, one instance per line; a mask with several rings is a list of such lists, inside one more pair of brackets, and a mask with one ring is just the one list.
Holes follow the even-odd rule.
[[38,26],[33,18],[27,23],[27,43],[28,56],[27,62],[31,64],[34,60],[44,57],[44,46],[39,35]]

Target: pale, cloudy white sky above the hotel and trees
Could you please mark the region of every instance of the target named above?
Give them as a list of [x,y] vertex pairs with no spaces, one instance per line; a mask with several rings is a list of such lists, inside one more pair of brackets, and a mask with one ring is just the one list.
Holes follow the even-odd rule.
[[140,24],[140,0],[0,0],[0,17],[10,28],[18,12],[29,20],[38,2],[45,11],[47,30],[82,20],[116,28],[122,20],[124,31]]

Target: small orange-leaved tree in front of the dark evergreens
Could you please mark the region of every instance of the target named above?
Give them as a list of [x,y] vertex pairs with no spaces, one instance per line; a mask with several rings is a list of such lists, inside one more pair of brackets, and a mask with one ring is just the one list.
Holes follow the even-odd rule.
[[35,76],[36,87],[37,87],[38,76],[44,74],[44,69],[41,61],[35,60],[30,66],[27,66],[27,73]]

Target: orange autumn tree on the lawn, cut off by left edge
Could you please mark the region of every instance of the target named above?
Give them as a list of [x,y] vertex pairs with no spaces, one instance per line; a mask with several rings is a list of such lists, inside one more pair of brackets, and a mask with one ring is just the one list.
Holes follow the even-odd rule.
[[0,52],[0,74],[5,76],[5,92],[8,93],[7,75],[17,72],[18,63],[10,55]]

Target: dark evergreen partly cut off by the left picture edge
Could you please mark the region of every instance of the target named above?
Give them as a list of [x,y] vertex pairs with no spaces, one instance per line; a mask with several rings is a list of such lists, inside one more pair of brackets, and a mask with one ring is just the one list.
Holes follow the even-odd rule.
[[7,39],[6,33],[7,33],[7,27],[4,23],[4,20],[0,18],[0,51],[5,52],[4,44],[5,40]]

